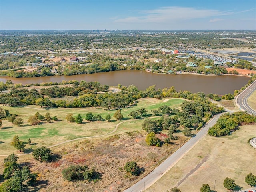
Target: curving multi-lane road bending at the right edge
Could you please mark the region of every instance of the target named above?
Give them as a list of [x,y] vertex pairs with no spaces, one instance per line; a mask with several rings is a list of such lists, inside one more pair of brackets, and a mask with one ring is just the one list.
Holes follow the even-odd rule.
[[247,111],[249,114],[256,115],[256,111],[248,105],[249,96],[256,90],[256,82],[248,86],[242,93],[236,97],[236,104],[241,110]]

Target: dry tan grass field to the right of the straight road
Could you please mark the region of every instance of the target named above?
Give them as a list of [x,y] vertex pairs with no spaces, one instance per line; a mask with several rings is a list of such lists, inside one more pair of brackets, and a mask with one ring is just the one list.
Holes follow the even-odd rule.
[[234,179],[241,188],[250,188],[244,178],[250,172],[256,174],[256,150],[247,142],[255,136],[255,130],[256,126],[241,126],[230,136],[207,135],[146,191],[166,192],[178,186],[181,191],[198,192],[206,183],[213,190],[216,179],[215,190],[226,192],[223,186],[226,177]]

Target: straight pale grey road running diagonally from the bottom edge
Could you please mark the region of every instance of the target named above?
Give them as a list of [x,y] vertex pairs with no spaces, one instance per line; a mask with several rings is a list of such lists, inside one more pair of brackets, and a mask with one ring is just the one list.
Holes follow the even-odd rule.
[[126,189],[124,192],[141,192],[149,188],[154,182],[160,179],[166,172],[170,170],[190,149],[192,149],[200,139],[206,136],[208,128],[216,124],[221,114],[214,116],[207,125],[205,125],[196,136],[192,137],[158,167],[156,167],[150,174],[144,177],[142,180]]

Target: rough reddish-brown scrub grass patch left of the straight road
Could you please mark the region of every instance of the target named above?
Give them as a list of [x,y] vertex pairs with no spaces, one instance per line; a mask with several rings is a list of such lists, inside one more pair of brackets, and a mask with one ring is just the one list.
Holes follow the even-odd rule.
[[[37,172],[40,180],[47,180],[48,185],[41,192],[52,191],[86,191],[86,192],[118,192],[128,188],[151,172],[158,162],[164,160],[176,150],[186,138],[181,137],[176,144],[163,147],[147,146],[146,132],[132,132],[101,139],[86,139],[66,144],[54,150],[62,155],[57,162],[40,163],[32,157],[21,156],[19,162],[30,162],[33,172]],[[118,138],[118,139],[117,139]],[[111,142],[110,142],[111,141]],[[136,161],[145,172],[140,176],[130,176],[123,170],[128,161]],[[61,171],[73,164],[93,166],[102,174],[98,182],[76,181],[67,182],[62,178]]]

